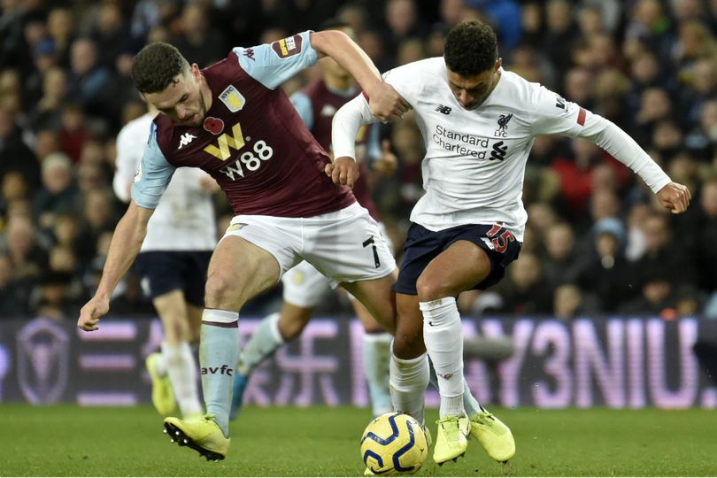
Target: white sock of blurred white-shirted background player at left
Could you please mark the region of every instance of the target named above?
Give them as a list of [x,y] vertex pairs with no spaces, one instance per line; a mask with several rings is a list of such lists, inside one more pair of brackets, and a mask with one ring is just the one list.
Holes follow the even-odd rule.
[[197,361],[189,348],[189,343],[170,345],[163,342],[162,357],[165,358],[169,382],[172,382],[174,398],[177,400],[182,416],[203,414],[204,407],[199,401],[197,387]]

